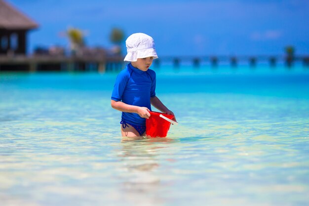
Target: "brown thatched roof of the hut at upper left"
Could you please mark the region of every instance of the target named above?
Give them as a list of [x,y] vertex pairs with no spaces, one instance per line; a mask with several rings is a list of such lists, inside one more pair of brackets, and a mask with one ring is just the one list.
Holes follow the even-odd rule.
[[38,24],[16,10],[4,0],[0,0],[0,29],[35,29]]

